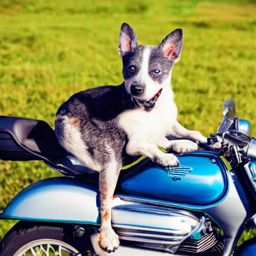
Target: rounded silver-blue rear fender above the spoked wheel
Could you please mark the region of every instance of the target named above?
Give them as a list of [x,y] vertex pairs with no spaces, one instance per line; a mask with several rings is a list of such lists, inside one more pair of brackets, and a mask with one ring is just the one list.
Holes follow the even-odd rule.
[[14,197],[0,218],[99,224],[98,183],[70,177],[37,181]]

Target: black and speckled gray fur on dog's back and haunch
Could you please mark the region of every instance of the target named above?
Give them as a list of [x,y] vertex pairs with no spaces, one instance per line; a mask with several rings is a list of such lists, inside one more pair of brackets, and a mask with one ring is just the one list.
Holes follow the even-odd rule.
[[123,83],[118,86],[107,85],[80,91],[59,107],[55,119],[55,133],[61,141],[64,124],[59,118],[60,115],[78,118],[81,138],[87,145],[90,156],[104,166],[110,159],[105,146],[108,145],[115,152],[116,160],[124,164],[124,145],[127,137],[118,128],[116,118],[121,112],[136,107]]

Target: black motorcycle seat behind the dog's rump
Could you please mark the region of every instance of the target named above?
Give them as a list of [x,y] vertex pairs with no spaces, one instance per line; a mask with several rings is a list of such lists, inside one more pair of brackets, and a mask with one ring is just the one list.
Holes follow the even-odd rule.
[[58,143],[54,130],[42,120],[0,116],[0,159],[43,160],[64,175],[98,179],[98,172],[74,162]]

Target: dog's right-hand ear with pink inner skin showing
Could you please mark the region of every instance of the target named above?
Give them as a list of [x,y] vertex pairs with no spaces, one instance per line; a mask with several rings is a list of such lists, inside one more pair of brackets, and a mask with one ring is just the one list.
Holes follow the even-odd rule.
[[183,31],[178,28],[169,33],[160,43],[159,47],[163,51],[163,54],[172,60],[177,60],[180,55],[181,47],[183,43]]

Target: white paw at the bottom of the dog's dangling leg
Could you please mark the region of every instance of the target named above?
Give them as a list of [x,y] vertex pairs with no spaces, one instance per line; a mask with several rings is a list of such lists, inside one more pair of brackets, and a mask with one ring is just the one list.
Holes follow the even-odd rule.
[[110,253],[118,248],[120,242],[112,228],[100,228],[98,243],[104,251]]

